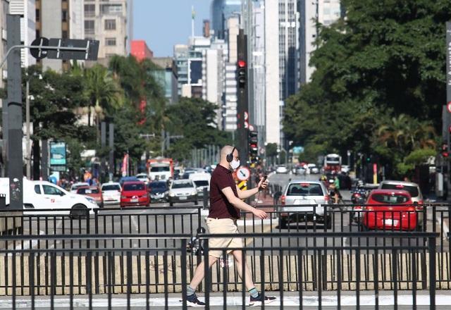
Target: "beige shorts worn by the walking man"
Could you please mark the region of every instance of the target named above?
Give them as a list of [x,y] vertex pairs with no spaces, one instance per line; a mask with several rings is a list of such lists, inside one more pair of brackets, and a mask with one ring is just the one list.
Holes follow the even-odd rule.
[[[213,234],[239,234],[237,221],[231,218],[206,218],[206,227],[209,233]],[[228,249],[234,247],[242,247],[242,238],[211,238],[209,240],[209,248]],[[227,254],[233,250],[228,249]],[[222,250],[211,250],[209,255],[221,257]]]

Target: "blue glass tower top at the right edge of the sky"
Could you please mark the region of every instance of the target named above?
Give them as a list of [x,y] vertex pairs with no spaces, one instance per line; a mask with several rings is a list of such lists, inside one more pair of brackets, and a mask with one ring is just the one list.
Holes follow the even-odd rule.
[[241,0],[214,0],[211,2],[211,20],[214,35],[218,39],[228,39],[228,19],[239,16]]

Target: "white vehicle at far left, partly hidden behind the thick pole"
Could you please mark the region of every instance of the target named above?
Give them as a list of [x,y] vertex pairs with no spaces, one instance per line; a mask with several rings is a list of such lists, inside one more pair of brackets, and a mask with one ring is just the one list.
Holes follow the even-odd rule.
[[[9,204],[9,178],[0,178],[0,194],[6,194],[6,205]],[[23,205],[25,210],[50,210],[51,214],[70,214],[80,216],[94,214],[94,209],[99,208],[94,199],[80,194],[74,194],[47,181],[31,181],[23,179]],[[64,209],[64,210],[63,210]],[[30,211],[27,211],[30,213]],[[31,212],[33,213],[33,212]],[[45,211],[37,211],[43,214]]]

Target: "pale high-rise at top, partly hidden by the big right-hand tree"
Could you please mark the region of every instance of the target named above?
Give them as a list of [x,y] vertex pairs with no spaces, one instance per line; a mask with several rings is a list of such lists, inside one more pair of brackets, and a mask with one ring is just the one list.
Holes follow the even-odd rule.
[[298,0],[299,11],[299,84],[310,81],[315,68],[309,66],[311,53],[318,37],[316,23],[330,25],[342,17],[340,0]]

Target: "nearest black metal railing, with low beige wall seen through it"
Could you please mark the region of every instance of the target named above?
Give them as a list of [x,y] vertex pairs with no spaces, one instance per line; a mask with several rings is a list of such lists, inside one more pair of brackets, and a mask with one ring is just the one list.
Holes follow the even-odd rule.
[[[285,306],[285,299],[295,298],[302,307],[307,300],[311,302],[311,291],[316,298],[316,306],[321,309],[323,298],[330,297],[334,291],[336,306],[342,304],[345,291],[352,290],[357,309],[361,302],[361,291],[374,292],[376,309],[379,305],[379,292],[388,290],[393,294],[395,305],[400,292],[412,294],[412,304],[416,304],[418,294],[427,294],[431,309],[435,305],[435,282],[439,274],[435,252],[437,233],[424,232],[362,232],[355,233],[248,233],[241,235],[199,235],[199,244],[203,248],[202,256],[208,258],[209,251],[217,250],[209,247],[211,237],[252,237],[263,238],[267,244],[271,240],[313,237],[351,238],[352,245],[336,244],[335,246],[316,244],[309,246],[288,247],[245,245],[243,252],[252,268],[252,278],[257,288],[267,294],[277,294],[279,309]],[[389,242],[385,247],[379,245],[362,245],[365,238],[385,237],[397,240],[411,239],[418,247],[407,247],[397,242]],[[172,306],[183,306],[185,300],[180,297],[186,294],[186,285],[192,278],[197,266],[196,257],[187,253],[190,235],[9,235],[1,236],[1,242],[22,240],[66,240],[73,244],[86,246],[73,248],[60,247],[66,242],[49,244],[41,249],[23,249],[9,247],[0,250],[0,294],[11,297],[6,299],[11,308],[20,302],[35,309],[36,303],[47,309],[59,306],[63,300],[70,309],[80,306],[83,295],[87,300],[85,306],[92,309],[102,299],[104,307],[111,309],[116,299],[125,302],[124,307],[131,309],[149,309],[158,304],[170,309]],[[123,240],[124,244],[116,244],[115,248],[104,248],[104,240]],[[147,240],[168,240],[167,247],[135,247],[138,241],[147,244]],[[177,240],[172,246],[172,241]],[[359,241],[360,240],[360,241]],[[129,241],[132,241],[130,247]],[[169,242],[171,241],[171,242]],[[84,243],[87,242],[87,243]],[[219,249],[226,256],[226,249]],[[368,254],[370,253],[370,255]],[[335,256],[335,259],[331,259]],[[418,263],[425,256],[426,266]],[[223,306],[230,303],[242,306],[249,304],[245,279],[237,275],[235,263],[223,261],[206,273],[201,290],[205,294],[206,308]],[[274,291],[272,293],[268,291]],[[171,295],[170,293],[177,294]],[[219,294],[218,294],[219,292]],[[234,297],[230,292],[241,292]],[[291,293],[290,293],[291,292]],[[160,293],[160,295],[155,295]],[[106,299],[100,297],[106,294]],[[288,295],[288,296],[287,296]],[[135,296],[142,296],[136,299]],[[145,297],[145,298],[144,298]],[[287,298],[284,298],[287,297]],[[404,297],[403,297],[404,298]]]

